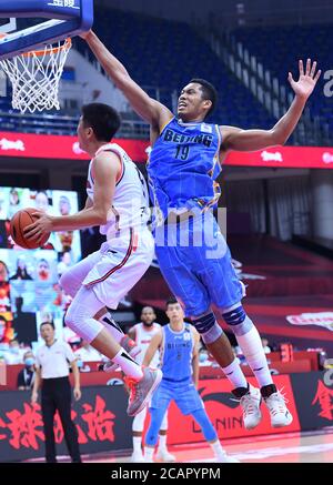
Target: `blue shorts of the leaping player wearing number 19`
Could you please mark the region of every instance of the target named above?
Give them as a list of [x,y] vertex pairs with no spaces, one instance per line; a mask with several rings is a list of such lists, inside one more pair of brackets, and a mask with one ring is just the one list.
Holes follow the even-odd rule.
[[160,270],[186,316],[200,316],[212,303],[228,309],[244,296],[230,250],[211,212],[155,229]]

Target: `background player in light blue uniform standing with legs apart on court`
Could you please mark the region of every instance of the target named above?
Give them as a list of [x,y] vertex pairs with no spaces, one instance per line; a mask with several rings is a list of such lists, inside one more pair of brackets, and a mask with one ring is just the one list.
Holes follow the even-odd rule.
[[199,380],[198,344],[199,333],[193,325],[184,322],[184,313],[175,299],[167,302],[170,323],[152,337],[143,358],[149,365],[160,350],[160,367],[163,373],[161,384],[153,394],[150,405],[150,426],[145,435],[144,458],[153,462],[153,453],[159,439],[159,431],[171,401],[184,415],[191,415],[202,430],[219,463],[238,463],[222,448],[218,434],[204,410],[196,391]]

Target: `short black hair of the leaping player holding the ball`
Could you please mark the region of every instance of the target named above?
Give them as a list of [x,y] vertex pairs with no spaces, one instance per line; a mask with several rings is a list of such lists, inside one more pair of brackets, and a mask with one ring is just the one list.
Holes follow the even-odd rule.
[[120,115],[118,111],[108,104],[84,104],[81,111],[84,127],[92,128],[98,141],[111,141],[120,129]]

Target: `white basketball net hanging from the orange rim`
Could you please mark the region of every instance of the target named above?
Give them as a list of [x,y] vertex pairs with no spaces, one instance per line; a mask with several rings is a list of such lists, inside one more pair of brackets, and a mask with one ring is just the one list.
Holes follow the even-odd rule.
[[12,84],[12,107],[21,113],[60,109],[58,93],[71,39],[0,60]]

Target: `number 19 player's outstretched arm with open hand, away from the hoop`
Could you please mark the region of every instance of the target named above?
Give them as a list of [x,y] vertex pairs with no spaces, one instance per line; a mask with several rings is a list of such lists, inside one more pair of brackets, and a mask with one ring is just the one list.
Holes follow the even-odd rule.
[[222,151],[239,150],[252,151],[268,146],[284,144],[294,131],[306,101],[315,88],[321,75],[316,72],[316,62],[307,59],[305,73],[303,61],[299,63],[300,78],[297,81],[289,73],[289,82],[295,93],[295,98],[281,120],[271,130],[241,130],[234,127],[221,127]]

